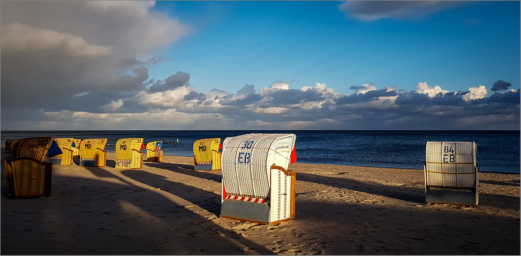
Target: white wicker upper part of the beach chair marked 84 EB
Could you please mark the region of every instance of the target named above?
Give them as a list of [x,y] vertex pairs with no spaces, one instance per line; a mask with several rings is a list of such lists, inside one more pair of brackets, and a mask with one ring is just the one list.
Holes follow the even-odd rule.
[[426,147],[427,186],[474,188],[476,143],[429,141]]

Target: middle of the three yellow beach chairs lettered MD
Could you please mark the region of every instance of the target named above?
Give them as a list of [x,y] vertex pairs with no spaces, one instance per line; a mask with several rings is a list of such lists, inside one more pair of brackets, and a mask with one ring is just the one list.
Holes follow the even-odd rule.
[[139,169],[143,167],[145,148],[142,138],[119,139],[116,142],[116,168]]

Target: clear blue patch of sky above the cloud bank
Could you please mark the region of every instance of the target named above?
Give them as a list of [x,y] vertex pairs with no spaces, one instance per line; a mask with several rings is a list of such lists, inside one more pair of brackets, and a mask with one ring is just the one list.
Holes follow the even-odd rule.
[[[519,87],[519,3],[461,3],[415,18],[359,20],[338,1],[157,2],[191,34],[150,68],[165,79],[179,70],[200,91],[316,82],[344,94],[351,86],[418,82],[450,91],[503,79]],[[291,82],[293,81],[293,82]],[[490,91],[488,95],[490,95]]]

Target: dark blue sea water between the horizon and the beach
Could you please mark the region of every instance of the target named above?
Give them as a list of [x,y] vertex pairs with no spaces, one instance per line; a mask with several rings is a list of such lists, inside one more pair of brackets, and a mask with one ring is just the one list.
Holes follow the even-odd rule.
[[[118,139],[163,141],[165,155],[193,156],[193,143],[247,133],[294,133],[297,163],[423,169],[427,141],[474,141],[480,172],[519,173],[517,130],[71,130],[2,131],[7,139],[46,137],[106,138],[105,150],[115,152]],[[165,143],[176,142],[179,143]]]

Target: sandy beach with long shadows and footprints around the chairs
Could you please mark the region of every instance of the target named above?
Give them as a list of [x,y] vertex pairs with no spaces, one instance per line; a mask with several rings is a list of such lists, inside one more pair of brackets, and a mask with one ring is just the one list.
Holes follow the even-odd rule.
[[[480,173],[467,207],[425,203],[423,169],[290,164],[296,219],[271,226],[220,218],[221,173],[193,170],[193,157],[116,169],[107,156],[53,166],[51,197],[1,196],[1,253],[520,253],[519,174]],[[7,191],[3,164],[1,179]]]

